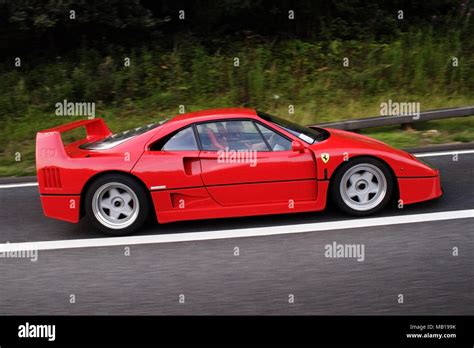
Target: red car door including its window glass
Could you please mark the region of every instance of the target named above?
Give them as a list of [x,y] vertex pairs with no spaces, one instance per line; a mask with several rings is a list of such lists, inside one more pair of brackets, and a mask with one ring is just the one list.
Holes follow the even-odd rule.
[[[292,151],[291,139],[251,119],[200,123],[196,130],[202,149],[202,181],[217,203],[233,206],[316,199],[311,150]],[[265,136],[272,136],[275,146]]]

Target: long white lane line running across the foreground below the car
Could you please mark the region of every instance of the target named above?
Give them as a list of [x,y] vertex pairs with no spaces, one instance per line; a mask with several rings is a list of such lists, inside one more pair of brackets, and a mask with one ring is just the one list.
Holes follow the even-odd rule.
[[89,238],[71,240],[53,240],[43,242],[4,243],[0,244],[0,252],[21,250],[55,250],[92,248],[119,245],[138,245],[156,243],[190,242],[212,239],[261,237],[281,234],[307,233],[317,231],[341,230],[361,227],[399,225],[427,221],[473,218],[474,209],[454,210],[439,213],[388,216],[368,219],[352,219],[331,222],[316,222],[300,225],[284,225],[257,228],[241,228],[233,230],[173,233],[165,235],[147,235],[130,237]]

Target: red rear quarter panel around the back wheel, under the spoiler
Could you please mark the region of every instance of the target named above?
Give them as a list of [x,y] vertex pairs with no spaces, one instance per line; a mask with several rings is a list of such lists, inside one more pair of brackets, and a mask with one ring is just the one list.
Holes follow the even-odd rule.
[[110,150],[91,151],[80,149],[78,143],[64,146],[57,133],[38,133],[36,169],[44,214],[78,222],[87,183],[107,172],[130,173],[153,135],[130,139]]

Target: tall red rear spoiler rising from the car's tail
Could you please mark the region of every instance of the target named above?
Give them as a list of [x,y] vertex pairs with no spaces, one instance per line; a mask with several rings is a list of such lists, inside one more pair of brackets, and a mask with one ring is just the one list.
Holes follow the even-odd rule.
[[36,164],[45,165],[50,162],[48,158],[61,159],[67,157],[61,133],[84,127],[87,141],[96,141],[112,134],[101,118],[93,120],[80,120],[67,123],[54,128],[40,131],[36,134]]

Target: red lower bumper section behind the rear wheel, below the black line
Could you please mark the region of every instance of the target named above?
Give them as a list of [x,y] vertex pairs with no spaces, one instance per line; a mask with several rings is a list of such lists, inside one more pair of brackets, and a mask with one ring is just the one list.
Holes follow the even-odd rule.
[[41,195],[41,205],[47,217],[67,222],[79,222],[79,195]]

